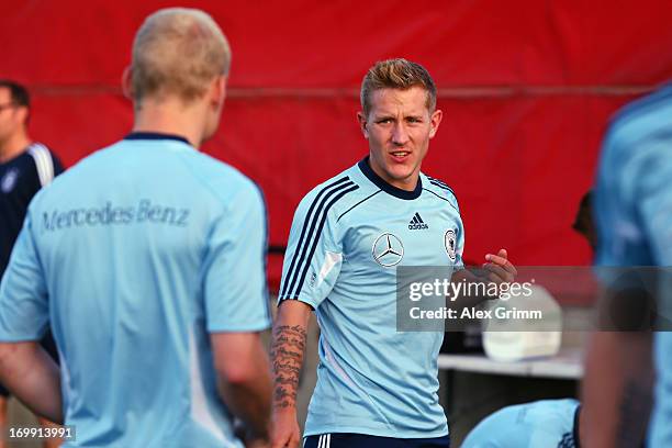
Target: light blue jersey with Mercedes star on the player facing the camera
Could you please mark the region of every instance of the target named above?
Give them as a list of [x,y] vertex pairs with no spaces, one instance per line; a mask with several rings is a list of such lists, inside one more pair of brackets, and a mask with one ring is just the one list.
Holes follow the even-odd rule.
[[457,200],[421,175],[415,191],[384,182],[368,159],[322,183],[299,205],[280,301],[315,309],[317,385],[305,436],[448,434],[438,402],[443,333],[396,332],[396,268],[462,267]]

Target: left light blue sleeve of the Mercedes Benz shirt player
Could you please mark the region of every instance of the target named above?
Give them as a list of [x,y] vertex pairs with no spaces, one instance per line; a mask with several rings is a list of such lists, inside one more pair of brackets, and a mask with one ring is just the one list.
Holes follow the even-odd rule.
[[38,340],[48,326],[44,272],[26,216],[0,283],[0,340]]

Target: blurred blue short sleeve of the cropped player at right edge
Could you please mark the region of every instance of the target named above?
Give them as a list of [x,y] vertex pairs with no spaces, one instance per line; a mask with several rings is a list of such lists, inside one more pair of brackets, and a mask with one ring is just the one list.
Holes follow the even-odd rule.
[[[623,305],[626,299],[649,306],[645,298],[653,293],[657,322],[670,328],[672,132],[629,131],[614,126],[603,148],[595,188],[595,275],[619,299],[611,303],[625,313],[632,312],[629,302]],[[650,266],[665,268],[641,268]],[[632,292],[642,290],[646,295]]]

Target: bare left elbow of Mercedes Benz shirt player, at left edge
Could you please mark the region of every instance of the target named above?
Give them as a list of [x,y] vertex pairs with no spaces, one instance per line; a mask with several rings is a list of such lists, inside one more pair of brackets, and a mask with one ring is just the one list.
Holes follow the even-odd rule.
[[35,414],[63,423],[58,366],[38,343],[0,343],[0,381]]

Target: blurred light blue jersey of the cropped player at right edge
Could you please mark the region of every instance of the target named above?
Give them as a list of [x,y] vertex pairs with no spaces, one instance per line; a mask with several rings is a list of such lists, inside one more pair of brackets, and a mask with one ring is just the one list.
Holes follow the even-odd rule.
[[[672,266],[672,87],[626,107],[604,142],[595,189],[596,265]],[[669,294],[669,290],[668,290]],[[670,318],[669,295],[658,304]],[[649,443],[672,446],[672,334],[657,333]]]

